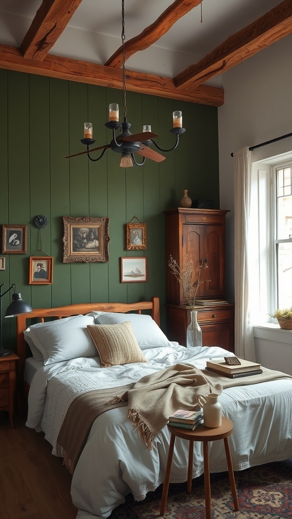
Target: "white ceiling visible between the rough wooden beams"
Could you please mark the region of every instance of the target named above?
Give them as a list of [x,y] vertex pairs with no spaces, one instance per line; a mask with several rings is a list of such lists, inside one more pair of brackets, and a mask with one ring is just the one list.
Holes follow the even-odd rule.
[[[139,35],[176,0],[125,0],[126,40]],[[280,3],[279,0],[203,0],[148,49],[129,70],[174,77]],[[0,0],[0,44],[20,47],[42,0]],[[104,64],[121,45],[121,0],[83,0],[50,54]],[[220,77],[210,81],[220,83]]]

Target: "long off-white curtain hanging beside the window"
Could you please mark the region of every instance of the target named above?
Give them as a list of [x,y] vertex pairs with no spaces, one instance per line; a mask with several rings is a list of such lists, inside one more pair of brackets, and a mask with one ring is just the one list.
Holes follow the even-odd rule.
[[254,332],[248,302],[249,296],[252,297],[248,228],[253,152],[246,147],[234,152],[233,158],[235,354],[241,359],[255,361]]

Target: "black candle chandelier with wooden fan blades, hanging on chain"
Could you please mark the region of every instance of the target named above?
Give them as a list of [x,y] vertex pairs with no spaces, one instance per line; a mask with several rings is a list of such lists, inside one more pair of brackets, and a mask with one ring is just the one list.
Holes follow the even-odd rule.
[[[150,146],[154,145],[161,152],[171,152],[176,149],[179,142],[179,135],[185,132],[185,129],[182,128],[182,113],[180,111],[175,111],[172,113],[172,128],[170,129],[171,133],[176,135],[176,142],[174,146],[169,149],[164,149],[158,146],[156,142],[153,140],[154,137],[158,137],[157,133],[153,133],[151,131],[150,125],[143,125],[142,132],[136,133],[132,135],[129,131],[131,125],[127,121],[127,99],[126,99],[126,81],[125,81],[125,9],[124,9],[124,1],[122,0],[122,82],[123,82],[123,118],[124,122],[120,122],[119,118],[119,107],[116,103],[111,103],[109,105],[109,120],[105,122],[105,126],[112,130],[112,140],[110,144],[105,144],[103,146],[98,146],[97,148],[89,148],[92,144],[95,143],[93,139],[93,128],[91,122],[84,123],[84,138],[81,139],[82,144],[86,146],[86,151],[81,153],[75,153],[74,155],[69,155],[65,158],[76,157],[77,155],[87,154],[89,160],[92,162],[96,162],[100,160],[104,155],[105,151],[108,148],[111,148],[113,152],[120,153],[122,155],[120,167],[121,168],[129,168],[133,166],[133,162],[137,166],[142,166],[145,162],[146,158],[154,160],[155,162],[161,162],[165,159],[163,155],[157,153],[154,149],[150,148]],[[116,135],[116,132],[120,130],[120,133]],[[102,149],[102,152],[99,157],[92,158],[89,155],[89,152],[95,152],[98,149]],[[141,162],[137,162],[135,158],[135,154],[141,155],[143,157]]]

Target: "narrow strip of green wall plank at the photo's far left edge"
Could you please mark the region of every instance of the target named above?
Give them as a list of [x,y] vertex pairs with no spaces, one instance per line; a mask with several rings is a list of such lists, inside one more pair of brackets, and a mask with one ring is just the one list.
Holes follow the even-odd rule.
[[[0,224],[8,223],[8,73],[6,70],[0,70],[0,178],[1,178],[1,204],[0,204]],[[5,257],[5,270],[0,271],[0,284],[5,283],[2,287],[2,293],[9,288],[9,255],[2,254],[2,228],[1,230],[1,256]],[[9,295],[3,296],[2,305],[4,309],[10,302]],[[6,306],[5,306],[6,305]],[[10,327],[9,321],[3,322],[3,345],[9,345]]]

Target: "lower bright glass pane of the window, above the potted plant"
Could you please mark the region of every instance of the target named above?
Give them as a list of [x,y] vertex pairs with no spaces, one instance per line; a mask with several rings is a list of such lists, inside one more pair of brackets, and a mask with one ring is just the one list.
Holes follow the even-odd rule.
[[292,240],[278,243],[278,308],[292,306]]

